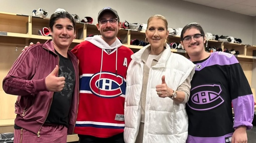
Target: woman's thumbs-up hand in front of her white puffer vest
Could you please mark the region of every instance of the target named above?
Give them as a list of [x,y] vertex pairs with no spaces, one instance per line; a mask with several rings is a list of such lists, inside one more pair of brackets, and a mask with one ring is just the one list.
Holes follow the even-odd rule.
[[162,76],[162,83],[160,85],[156,86],[156,91],[160,91],[161,94],[158,95],[159,97],[165,98],[165,97],[171,97],[173,90],[171,88],[169,88],[166,83],[165,83],[165,76]]

